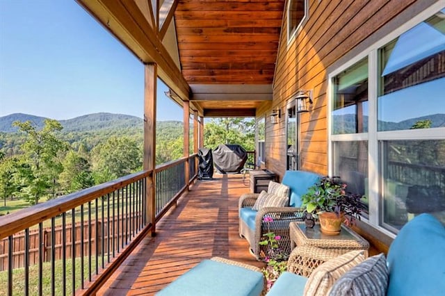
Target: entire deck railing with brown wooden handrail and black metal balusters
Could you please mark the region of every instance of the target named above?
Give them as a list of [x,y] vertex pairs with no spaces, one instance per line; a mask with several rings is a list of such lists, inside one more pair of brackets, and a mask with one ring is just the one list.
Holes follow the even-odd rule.
[[[156,221],[196,178],[195,163],[193,154],[156,167]],[[97,291],[152,230],[147,220],[151,180],[152,171],[138,172],[0,217],[0,291]]]

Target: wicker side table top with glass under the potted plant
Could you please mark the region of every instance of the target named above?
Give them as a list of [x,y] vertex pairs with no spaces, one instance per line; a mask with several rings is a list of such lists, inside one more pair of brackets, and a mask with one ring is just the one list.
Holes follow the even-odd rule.
[[314,228],[306,228],[305,222],[291,222],[289,224],[291,236],[291,249],[300,246],[333,249],[337,254],[346,254],[353,249],[362,249],[364,256],[368,257],[369,242],[359,236],[353,229],[341,225],[341,232],[337,236],[328,236],[320,230],[320,224]]

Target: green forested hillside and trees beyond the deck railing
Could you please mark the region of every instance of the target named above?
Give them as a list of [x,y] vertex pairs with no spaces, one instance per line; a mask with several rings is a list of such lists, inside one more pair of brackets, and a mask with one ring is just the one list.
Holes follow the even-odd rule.
[[[8,126],[10,124],[11,126]],[[184,155],[184,124],[156,122],[156,165]],[[211,120],[204,145],[254,149],[254,120]],[[191,146],[193,140],[190,141]],[[193,146],[192,146],[193,147]],[[143,120],[97,113],[72,120],[0,117],[0,198],[37,204],[142,170]]]

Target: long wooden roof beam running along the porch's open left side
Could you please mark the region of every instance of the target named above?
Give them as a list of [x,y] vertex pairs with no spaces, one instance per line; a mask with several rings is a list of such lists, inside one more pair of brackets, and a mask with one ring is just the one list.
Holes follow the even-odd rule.
[[136,2],[124,0],[76,1],[143,63],[156,63],[159,77],[181,99],[188,100],[190,93],[188,83]]

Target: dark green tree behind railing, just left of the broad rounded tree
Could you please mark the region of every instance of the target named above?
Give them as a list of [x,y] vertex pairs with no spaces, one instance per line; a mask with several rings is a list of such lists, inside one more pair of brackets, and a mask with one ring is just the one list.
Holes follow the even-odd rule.
[[63,172],[59,181],[67,192],[89,188],[95,184],[90,163],[75,151],[68,151],[62,165]]

